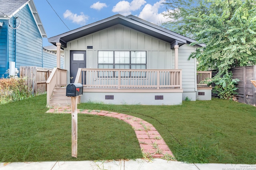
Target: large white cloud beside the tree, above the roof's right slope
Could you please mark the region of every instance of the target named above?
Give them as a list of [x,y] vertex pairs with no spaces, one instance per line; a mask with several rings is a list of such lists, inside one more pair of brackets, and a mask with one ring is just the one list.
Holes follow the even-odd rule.
[[166,11],[158,13],[158,9],[164,5],[162,4],[164,1],[165,0],[160,0],[159,2],[156,2],[154,5],[146,4],[138,17],[155,24],[160,24],[169,21],[170,19],[162,15],[162,13],[167,14]]

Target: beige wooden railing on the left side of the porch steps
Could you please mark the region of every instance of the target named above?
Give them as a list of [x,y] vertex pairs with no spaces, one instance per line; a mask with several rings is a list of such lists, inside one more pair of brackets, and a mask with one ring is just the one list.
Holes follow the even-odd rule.
[[46,81],[46,84],[47,84],[47,104],[49,104],[54,88],[67,85],[67,70],[64,70],[61,68],[54,68],[48,80]]

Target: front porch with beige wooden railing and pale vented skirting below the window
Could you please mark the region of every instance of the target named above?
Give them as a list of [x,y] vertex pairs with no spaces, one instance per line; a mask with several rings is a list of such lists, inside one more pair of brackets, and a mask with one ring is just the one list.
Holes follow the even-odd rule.
[[182,70],[79,68],[81,102],[174,105],[182,102]]

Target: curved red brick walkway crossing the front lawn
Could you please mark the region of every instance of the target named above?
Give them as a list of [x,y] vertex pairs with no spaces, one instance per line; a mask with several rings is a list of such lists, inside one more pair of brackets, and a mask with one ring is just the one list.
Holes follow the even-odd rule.
[[[71,107],[51,108],[47,113],[71,113]],[[174,158],[172,151],[166,145],[156,128],[138,117],[100,110],[78,109],[78,113],[108,116],[123,120],[134,129],[144,156],[152,158]]]

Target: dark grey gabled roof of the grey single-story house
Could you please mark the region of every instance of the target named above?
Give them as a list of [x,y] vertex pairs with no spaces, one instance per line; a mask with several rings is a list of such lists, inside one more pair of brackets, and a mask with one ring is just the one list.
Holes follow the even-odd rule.
[[[85,35],[89,35],[102,29],[106,29],[117,24],[122,24],[124,26],[130,27],[142,33],[151,35],[152,37],[157,37],[166,42],[169,42],[171,44],[171,48],[173,48],[174,45],[181,46],[185,43],[189,44],[192,42],[196,42],[193,39],[190,39],[188,37],[185,37],[183,35],[180,35],[178,33],[175,33],[153,23],[150,23],[148,21],[142,20],[136,16],[130,15],[125,17],[120,14],[91,23],[89,25],[85,25],[83,27],[68,31],[66,33],[62,33],[60,35],[56,35],[54,37],[50,37],[48,38],[48,41],[53,45],[56,45],[56,43],[61,43],[62,47],[66,47],[69,41],[83,37]],[[204,44],[200,44],[200,46],[204,46]]]

